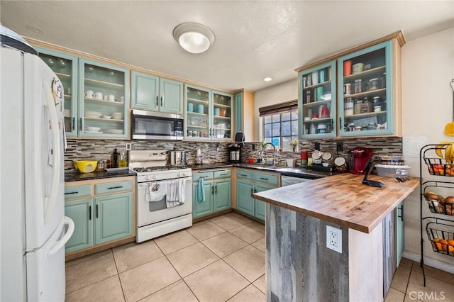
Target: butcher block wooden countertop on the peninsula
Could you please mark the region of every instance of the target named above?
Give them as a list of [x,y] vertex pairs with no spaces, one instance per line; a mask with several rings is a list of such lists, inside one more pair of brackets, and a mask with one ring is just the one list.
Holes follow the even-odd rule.
[[384,188],[361,184],[362,175],[350,173],[262,191],[254,198],[292,211],[370,233],[417,186],[419,178],[397,182],[392,177],[370,175]]

